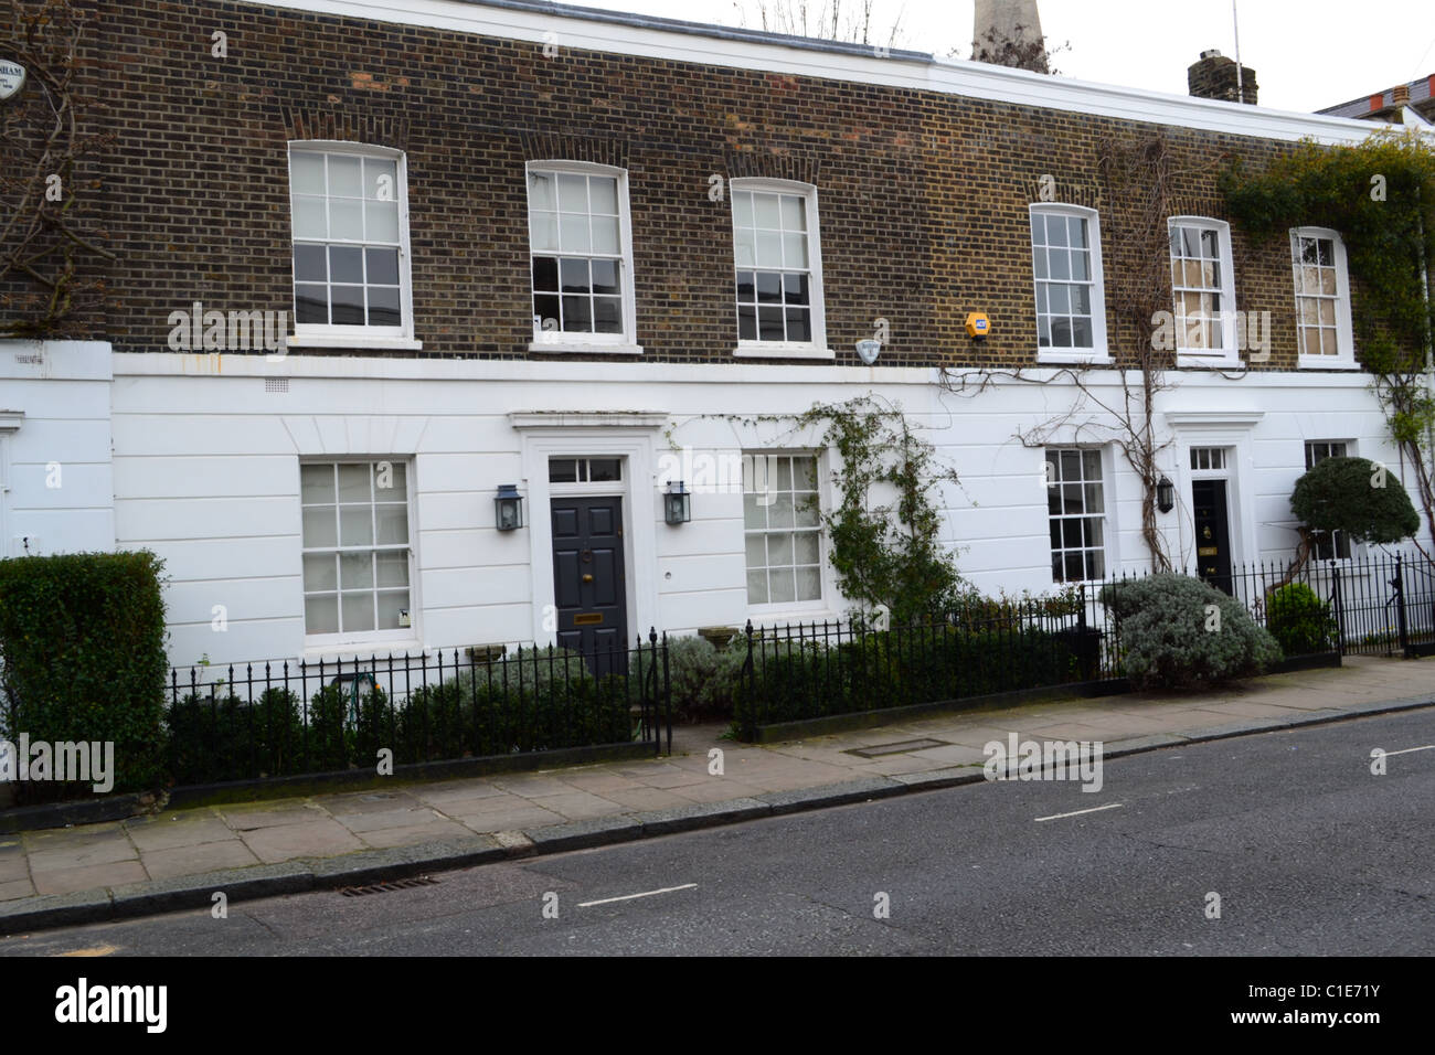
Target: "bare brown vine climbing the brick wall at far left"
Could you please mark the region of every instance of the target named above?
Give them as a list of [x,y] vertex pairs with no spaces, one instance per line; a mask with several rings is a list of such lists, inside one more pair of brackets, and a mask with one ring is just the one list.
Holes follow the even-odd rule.
[[110,135],[92,131],[83,37],[72,0],[0,0],[0,57],[26,69],[20,95],[0,103],[0,336],[69,334],[103,297],[86,264],[115,260],[86,225],[99,181],[82,159]]

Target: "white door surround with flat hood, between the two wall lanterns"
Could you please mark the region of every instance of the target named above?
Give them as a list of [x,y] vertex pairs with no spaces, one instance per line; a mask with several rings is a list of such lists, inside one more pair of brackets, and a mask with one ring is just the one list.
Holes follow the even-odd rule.
[[[657,492],[653,438],[667,415],[512,413],[521,441],[522,484],[527,494],[530,573],[532,576],[532,640],[552,644],[555,630],[545,630],[547,611],[555,603],[552,578],[552,497],[575,494],[568,484],[548,482],[548,459],[585,455],[623,458],[623,479],[585,485],[583,494],[618,498],[623,505],[623,564],[627,568],[624,600],[629,636],[657,626]],[[557,421],[555,421],[557,419]],[[571,423],[568,423],[571,422]],[[630,642],[631,646],[631,642]]]

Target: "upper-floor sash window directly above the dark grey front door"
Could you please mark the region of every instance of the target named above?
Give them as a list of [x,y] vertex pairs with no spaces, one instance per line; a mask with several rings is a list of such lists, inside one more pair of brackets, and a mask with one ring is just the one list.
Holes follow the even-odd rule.
[[627,174],[528,165],[534,350],[637,353]]

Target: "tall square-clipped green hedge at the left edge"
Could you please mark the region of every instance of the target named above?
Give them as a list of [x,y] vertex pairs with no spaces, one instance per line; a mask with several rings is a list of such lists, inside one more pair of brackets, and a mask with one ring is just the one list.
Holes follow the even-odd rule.
[[[162,568],[144,550],[0,560],[7,739],[113,742],[113,791],[159,787],[169,673]],[[63,791],[20,788],[32,800]]]

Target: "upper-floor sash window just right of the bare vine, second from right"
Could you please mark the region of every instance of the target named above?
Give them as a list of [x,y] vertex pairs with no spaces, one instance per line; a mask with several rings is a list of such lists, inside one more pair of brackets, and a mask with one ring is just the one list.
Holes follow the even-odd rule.
[[1175,217],[1170,228],[1177,356],[1194,363],[1234,360],[1236,280],[1230,224]]

